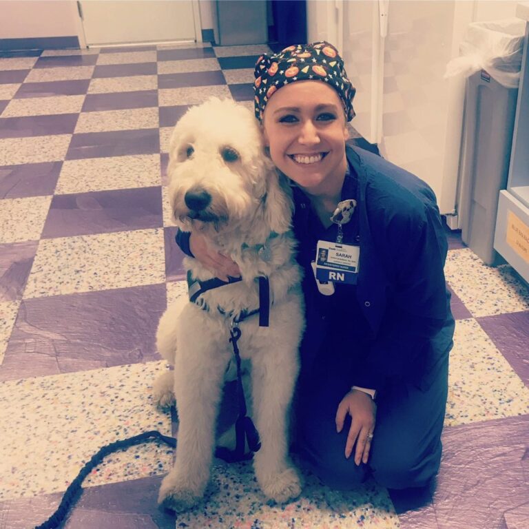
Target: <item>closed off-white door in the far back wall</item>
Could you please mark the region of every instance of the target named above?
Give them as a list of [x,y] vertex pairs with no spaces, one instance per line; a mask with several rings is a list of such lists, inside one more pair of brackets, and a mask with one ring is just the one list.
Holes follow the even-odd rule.
[[196,37],[198,10],[193,0],[83,0],[86,44],[201,41]]

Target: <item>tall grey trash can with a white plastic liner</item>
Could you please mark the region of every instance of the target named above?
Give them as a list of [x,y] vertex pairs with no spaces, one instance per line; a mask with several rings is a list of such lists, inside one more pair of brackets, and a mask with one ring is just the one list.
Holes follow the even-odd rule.
[[504,262],[493,247],[494,233],[499,191],[507,187],[524,33],[520,19],[470,24],[461,56],[446,73],[467,77],[457,207],[461,240],[491,266]]

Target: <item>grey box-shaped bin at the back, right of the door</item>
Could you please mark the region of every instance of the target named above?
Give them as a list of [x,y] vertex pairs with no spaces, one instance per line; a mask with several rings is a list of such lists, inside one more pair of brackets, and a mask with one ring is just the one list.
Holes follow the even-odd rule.
[[221,46],[268,42],[267,3],[264,0],[217,0]]

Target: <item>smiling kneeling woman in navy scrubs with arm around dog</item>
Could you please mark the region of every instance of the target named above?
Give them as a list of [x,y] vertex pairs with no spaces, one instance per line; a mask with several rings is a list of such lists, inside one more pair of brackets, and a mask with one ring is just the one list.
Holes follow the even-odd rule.
[[[329,43],[261,56],[254,90],[269,155],[293,184],[304,268],[300,454],[333,488],[369,475],[426,486],[441,459],[454,330],[435,195],[346,145],[355,89]],[[200,234],[177,240],[219,277],[238,275]]]

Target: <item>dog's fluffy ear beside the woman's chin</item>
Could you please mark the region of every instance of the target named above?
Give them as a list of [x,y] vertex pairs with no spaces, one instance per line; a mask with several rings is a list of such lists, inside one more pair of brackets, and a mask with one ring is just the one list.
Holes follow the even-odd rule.
[[264,199],[264,218],[276,234],[289,231],[292,220],[292,191],[289,180],[275,168],[267,171],[267,194]]

